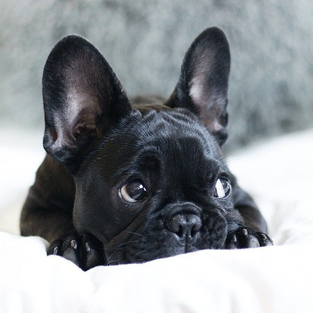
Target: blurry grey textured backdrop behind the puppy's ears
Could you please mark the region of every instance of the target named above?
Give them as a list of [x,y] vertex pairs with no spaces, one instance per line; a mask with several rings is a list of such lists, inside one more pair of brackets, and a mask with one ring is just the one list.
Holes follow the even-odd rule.
[[42,70],[67,34],[96,45],[129,95],[169,96],[208,26],[231,48],[228,149],[313,125],[312,0],[1,0],[0,124],[43,128]]

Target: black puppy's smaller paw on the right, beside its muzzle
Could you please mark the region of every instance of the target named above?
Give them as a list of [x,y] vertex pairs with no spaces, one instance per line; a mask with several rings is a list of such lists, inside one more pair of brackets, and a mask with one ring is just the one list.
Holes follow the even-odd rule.
[[260,246],[273,246],[273,242],[268,235],[248,227],[241,227],[229,233],[225,243],[226,249],[257,248]]

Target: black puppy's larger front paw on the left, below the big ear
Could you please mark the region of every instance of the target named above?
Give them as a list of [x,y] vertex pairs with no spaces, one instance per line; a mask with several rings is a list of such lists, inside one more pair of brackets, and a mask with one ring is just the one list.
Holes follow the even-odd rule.
[[104,264],[103,245],[94,236],[70,234],[64,239],[55,240],[47,250],[47,255],[59,255],[88,270]]

